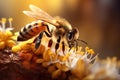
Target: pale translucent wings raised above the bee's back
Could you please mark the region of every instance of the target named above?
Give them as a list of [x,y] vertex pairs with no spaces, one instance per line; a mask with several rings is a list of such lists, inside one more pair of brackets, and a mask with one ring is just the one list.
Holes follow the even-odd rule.
[[37,20],[46,21],[46,22],[51,23],[53,25],[58,25],[56,23],[56,19],[51,17],[45,11],[41,10],[40,8],[38,8],[34,5],[30,5],[29,7],[30,7],[31,11],[23,11],[23,13],[26,14],[27,16],[30,16],[30,17],[35,18]]

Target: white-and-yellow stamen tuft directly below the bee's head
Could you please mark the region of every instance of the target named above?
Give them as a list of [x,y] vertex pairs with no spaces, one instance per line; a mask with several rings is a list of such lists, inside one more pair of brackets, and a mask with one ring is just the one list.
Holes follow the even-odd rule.
[[[81,54],[82,52],[82,54]],[[83,52],[85,54],[83,54]],[[63,54],[62,49],[58,50],[58,55],[56,54],[55,56],[62,56],[62,60],[57,57],[56,60],[51,59],[51,61],[49,62],[49,64],[53,64],[53,63],[60,63],[60,64],[64,64],[66,65],[69,69],[72,69],[76,66],[76,63],[78,60],[83,60],[86,64],[89,64],[90,62],[92,62],[93,60],[96,59],[97,56],[92,57],[93,55],[93,50],[92,49],[88,49],[85,51],[82,51],[81,47],[78,48],[78,50],[76,51],[76,49],[73,47],[70,51],[69,49],[66,48],[65,54]],[[55,53],[53,53],[55,54]],[[90,57],[88,58],[88,56],[90,55]],[[52,58],[52,55],[51,55]]]

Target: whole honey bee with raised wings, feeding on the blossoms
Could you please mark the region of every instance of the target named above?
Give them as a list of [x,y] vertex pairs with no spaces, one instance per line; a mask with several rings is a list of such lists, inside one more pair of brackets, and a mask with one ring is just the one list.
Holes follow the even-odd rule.
[[63,52],[65,51],[65,45],[71,49],[73,46],[78,46],[78,41],[87,44],[85,41],[78,39],[78,29],[72,27],[67,20],[60,17],[53,18],[48,13],[34,5],[30,5],[29,7],[31,11],[23,11],[23,13],[35,18],[36,21],[27,24],[20,30],[17,41],[25,41],[38,35],[34,40],[35,48],[38,49],[42,37],[45,35],[50,38],[48,41],[48,47],[51,47],[53,42],[55,42],[55,51],[57,51],[59,45],[62,44]]

